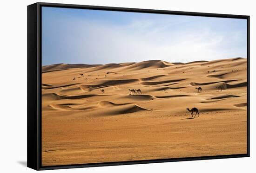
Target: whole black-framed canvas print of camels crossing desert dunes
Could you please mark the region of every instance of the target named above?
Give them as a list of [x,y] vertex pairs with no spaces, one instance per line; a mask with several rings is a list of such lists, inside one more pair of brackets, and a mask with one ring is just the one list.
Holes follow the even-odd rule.
[[249,16],[27,6],[27,166],[249,156]]

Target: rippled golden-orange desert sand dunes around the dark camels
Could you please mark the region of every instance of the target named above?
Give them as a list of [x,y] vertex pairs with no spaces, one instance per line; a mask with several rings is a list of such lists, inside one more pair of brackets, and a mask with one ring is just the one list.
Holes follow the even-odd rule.
[[42,166],[246,154],[246,129],[246,58],[42,67]]

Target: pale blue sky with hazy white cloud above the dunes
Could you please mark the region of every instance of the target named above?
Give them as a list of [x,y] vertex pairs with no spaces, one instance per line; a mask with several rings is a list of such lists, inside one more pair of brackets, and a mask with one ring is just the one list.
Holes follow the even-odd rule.
[[42,65],[246,58],[246,22],[42,7]]

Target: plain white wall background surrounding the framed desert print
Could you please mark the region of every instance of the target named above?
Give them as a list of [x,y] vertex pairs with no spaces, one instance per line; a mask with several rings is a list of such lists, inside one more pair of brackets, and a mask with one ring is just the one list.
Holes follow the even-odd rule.
[[[188,12],[250,15],[251,108],[256,91],[256,10],[254,0],[41,0]],[[33,172],[27,168],[27,5],[35,0],[2,0],[0,6],[0,172]],[[245,173],[256,171],[256,111],[251,109],[251,157],[157,164],[54,170],[58,173]]]

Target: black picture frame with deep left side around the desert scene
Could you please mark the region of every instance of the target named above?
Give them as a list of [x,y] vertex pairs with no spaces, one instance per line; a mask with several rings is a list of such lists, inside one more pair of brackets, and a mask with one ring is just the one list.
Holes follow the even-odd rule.
[[[157,160],[137,160],[137,161],[120,161],[93,164],[61,165],[61,166],[41,166],[41,7],[64,7],[80,8],[108,11],[140,12],[140,13],[161,13],[161,14],[178,14],[191,16],[219,17],[219,18],[236,18],[247,20],[247,154],[217,155],[204,157],[187,157],[175,159],[157,159]],[[116,165],[131,165],[144,163],[187,161],[187,160],[209,160],[249,157],[250,153],[250,117],[249,117],[249,89],[250,89],[250,17],[246,15],[214,14],[214,13],[195,13],[180,12],[152,9],[136,9],[108,6],[85,6],[56,3],[34,3],[27,6],[27,167],[35,170],[79,168],[79,167],[101,167]]]

